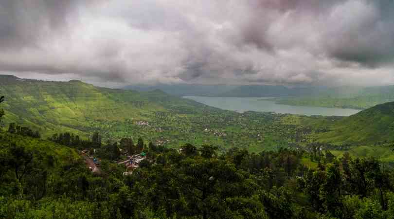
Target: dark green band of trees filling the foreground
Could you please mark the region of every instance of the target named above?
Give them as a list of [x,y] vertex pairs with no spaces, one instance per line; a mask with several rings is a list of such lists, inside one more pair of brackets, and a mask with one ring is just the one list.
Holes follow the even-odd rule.
[[[122,141],[121,141],[122,142]],[[118,143],[117,143],[118,144]],[[121,145],[121,144],[119,144]],[[134,145],[131,143],[122,143]],[[348,154],[308,168],[302,150],[250,153],[190,144],[179,150],[149,144],[146,162],[125,167],[105,159],[102,174],[85,164],[48,171],[23,149],[2,156],[2,218],[110,219],[385,219],[394,216],[393,171],[374,158]],[[33,153],[34,154],[34,153]],[[23,177],[17,172],[27,171]],[[22,168],[23,167],[23,168]],[[43,168],[43,169],[40,169]],[[35,179],[35,180],[34,180]],[[46,179],[46,180],[45,180]],[[17,184],[15,184],[17,183]],[[2,184],[2,186],[4,183]],[[18,185],[19,190],[12,189]]]

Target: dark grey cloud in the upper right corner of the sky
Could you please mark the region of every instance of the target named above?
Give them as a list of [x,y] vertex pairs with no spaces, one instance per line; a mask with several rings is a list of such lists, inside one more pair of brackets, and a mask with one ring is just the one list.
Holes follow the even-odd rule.
[[370,67],[394,61],[394,1],[349,0],[328,18],[326,48],[340,60]]

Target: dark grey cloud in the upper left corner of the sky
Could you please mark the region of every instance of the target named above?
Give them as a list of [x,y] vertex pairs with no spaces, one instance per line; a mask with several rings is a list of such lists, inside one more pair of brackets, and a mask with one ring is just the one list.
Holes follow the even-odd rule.
[[1,0],[0,46],[34,46],[45,34],[60,31],[76,0]]

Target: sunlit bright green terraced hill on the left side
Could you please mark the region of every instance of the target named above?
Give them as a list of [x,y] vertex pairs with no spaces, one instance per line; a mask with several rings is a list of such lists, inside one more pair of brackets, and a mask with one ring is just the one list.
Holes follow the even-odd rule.
[[87,136],[92,121],[142,119],[144,113],[172,106],[202,106],[159,90],[126,91],[77,80],[39,81],[12,75],[0,75],[0,94],[5,96],[5,124],[16,122],[44,136],[65,131]]

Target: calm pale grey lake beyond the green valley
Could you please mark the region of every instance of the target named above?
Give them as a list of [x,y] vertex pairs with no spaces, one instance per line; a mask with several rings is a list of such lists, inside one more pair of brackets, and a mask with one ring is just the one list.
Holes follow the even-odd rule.
[[[244,111],[261,111],[276,113],[291,113],[299,115],[323,115],[323,116],[349,116],[360,110],[325,108],[325,107],[307,107],[307,106],[289,106],[275,104],[269,101],[269,98],[254,97],[205,97],[205,96],[184,96],[183,98],[192,99],[205,105],[216,107],[223,110],[234,110],[237,112]],[[263,100],[262,100],[263,99]]]

